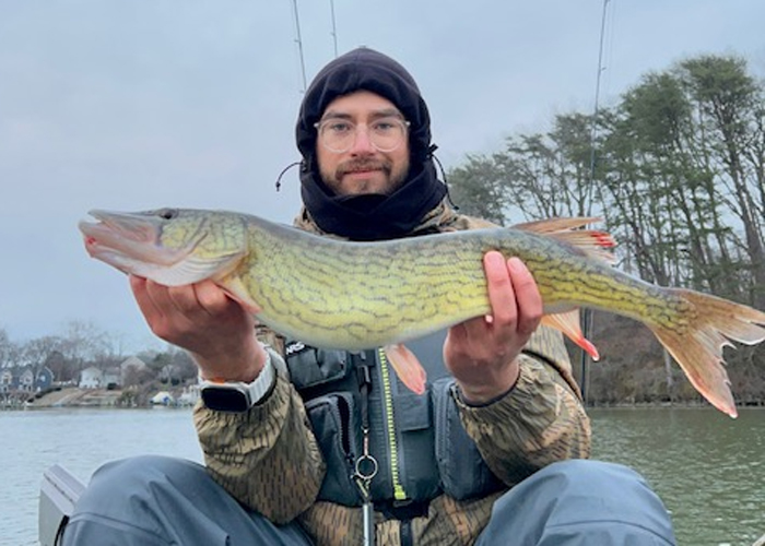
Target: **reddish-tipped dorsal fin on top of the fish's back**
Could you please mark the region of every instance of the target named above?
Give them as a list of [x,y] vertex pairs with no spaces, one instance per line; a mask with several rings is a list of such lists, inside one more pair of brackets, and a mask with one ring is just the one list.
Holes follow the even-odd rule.
[[587,224],[600,222],[598,217],[550,218],[527,222],[514,226],[516,229],[532,232],[576,247],[587,256],[603,260],[613,265],[616,257],[610,251],[616,241],[608,232],[599,229],[579,229]]

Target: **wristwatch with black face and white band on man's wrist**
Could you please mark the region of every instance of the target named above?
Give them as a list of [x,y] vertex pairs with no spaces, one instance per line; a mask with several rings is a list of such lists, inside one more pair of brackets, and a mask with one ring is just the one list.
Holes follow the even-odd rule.
[[202,402],[216,412],[244,413],[259,403],[276,382],[276,373],[271,363],[271,355],[255,381],[215,381],[204,379],[199,385]]

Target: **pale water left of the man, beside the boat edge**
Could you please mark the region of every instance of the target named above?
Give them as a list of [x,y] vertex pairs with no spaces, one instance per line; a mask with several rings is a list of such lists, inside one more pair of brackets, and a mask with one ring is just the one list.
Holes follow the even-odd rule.
[[43,472],[61,464],[87,483],[103,463],[142,453],[201,461],[190,410],[0,412],[0,546],[37,545]]

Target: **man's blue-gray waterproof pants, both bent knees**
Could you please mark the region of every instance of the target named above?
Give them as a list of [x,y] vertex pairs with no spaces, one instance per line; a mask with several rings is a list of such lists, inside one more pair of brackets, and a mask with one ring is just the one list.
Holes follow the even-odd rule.
[[[310,546],[297,524],[278,526],[237,503],[204,467],[139,456],[99,468],[78,501],[64,546]],[[501,497],[476,546],[675,544],[659,498],[624,466],[552,464]]]

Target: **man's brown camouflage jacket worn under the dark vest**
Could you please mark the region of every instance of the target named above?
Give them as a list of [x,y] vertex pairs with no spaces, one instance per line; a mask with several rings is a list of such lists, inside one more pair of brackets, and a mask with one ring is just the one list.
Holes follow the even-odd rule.
[[[296,225],[320,233],[305,210]],[[443,203],[413,235],[489,226]],[[283,351],[273,332],[263,330],[260,337]],[[303,399],[284,367],[278,368],[271,394],[245,414],[213,412],[201,403],[196,407],[209,472],[238,501],[274,523],[297,519],[318,546],[362,544],[360,508],[317,500],[327,471],[325,458]],[[454,399],[464,430],[503,488],[469,500],[440,494],[429,501],[426,513],[411,520],[413,544],[473,544],[503,492],[548,464],[589,456],[589,419],[557,332],[540,328],[532,336],[521,355],[518,382],[502,399],[480,407],[468,406],[457,394]],[[400,545],[400,526],[399,520],[376,512],[376,544]]]

